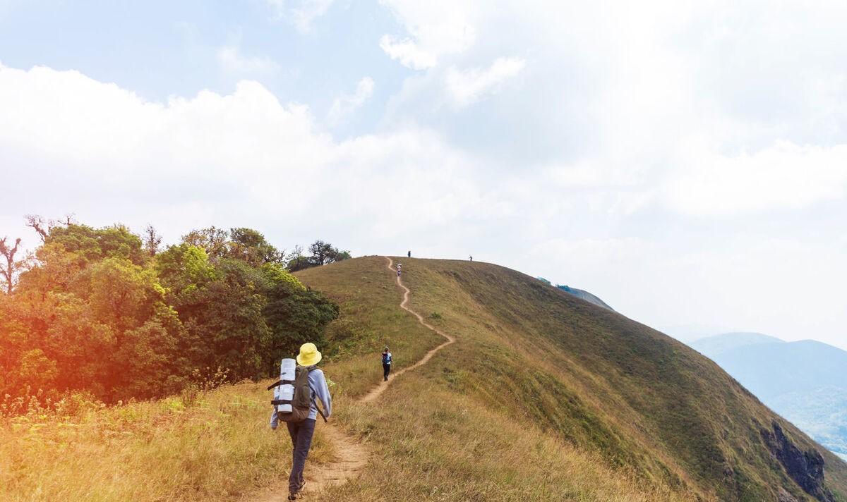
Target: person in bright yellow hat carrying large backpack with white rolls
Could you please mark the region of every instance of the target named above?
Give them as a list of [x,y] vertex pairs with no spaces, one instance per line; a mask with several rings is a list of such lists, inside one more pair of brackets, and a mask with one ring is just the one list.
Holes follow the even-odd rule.
[[[268,387],[268,390],[276,388],[274,400],[271,401],[274,405],[274,414],[270,418],[270,428],[275,430],[279,422],[283,421],[291,435],[289,500],[299,499],[303,486],[306,484],[303,479],[303,468],[306,466],[306,457],[312,445],[318,414],[326,422],[327,417],[332,413],[329,386],[327,386],[324,372],[316,367],[320,360],[321,353],[318,352],[318,347],[311,343],[301,345],[300,354],[296,357],[296,368],[291,371],[294,366],[291,364],[293,361],[283,359],[280,380]],[[318,408],[316,398],[320,400],[324,411]]]

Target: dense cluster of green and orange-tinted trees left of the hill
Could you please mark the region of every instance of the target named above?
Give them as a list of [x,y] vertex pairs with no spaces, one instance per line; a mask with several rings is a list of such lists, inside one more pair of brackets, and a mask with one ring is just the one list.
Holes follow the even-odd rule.
[[42,238],[30,256],[0,240],[0,397],[86,391],[115,402],[221,372],[271,376],[339,312],[288,268],[350,257],[320,241],[286,257],[244,228],[193,230],[160,250],[152,227],[29,223]]

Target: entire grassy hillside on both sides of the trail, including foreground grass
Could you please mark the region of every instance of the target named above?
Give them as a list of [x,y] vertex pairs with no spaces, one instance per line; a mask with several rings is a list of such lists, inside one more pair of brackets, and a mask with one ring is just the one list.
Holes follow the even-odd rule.
[[[673,339],[506,268],[402,262],[412,309],[457,341],[368,404],[353,398],[381,379],[384,345],[404,367],[442,339],[398,308],[383,257],[297,274],[341,306],[324,372],[336,427],[371,450],[360,477],[313,499],[811,500],[766,439],[820,450],[826,488],[847,493],[844,463]],[[251,499],[290,462],[268,399],[241,383],[3,422],[0,498]],[[312,466],[336,455],[323,428]]]

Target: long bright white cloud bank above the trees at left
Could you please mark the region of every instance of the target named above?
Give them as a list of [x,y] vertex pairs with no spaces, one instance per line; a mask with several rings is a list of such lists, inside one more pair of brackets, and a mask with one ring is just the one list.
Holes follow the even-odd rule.
[[[352,102],[372,82],[358,88]],[[0,109],[8,182],[41,187],[37,200],[20,190],[8,201],[21,214],[75,212],[136,229],[155,220],[171,239],[191,226],[249,224],[283,244],[315,238],[319,218],[326,238],[362,252],[489,213],[473,162],[440,135],[335,141],[307,107],[255,81],[230,95],[147,102],[75,71],[0,68]]]

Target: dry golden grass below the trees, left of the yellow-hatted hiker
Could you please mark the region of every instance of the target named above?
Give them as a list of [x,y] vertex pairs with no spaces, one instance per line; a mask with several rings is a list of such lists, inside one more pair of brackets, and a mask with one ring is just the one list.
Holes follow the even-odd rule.
[[[267,394],[242,383],[193,399],[2,422],[0,499],[208,502],[286,486],[291,440],[285,428],[268,428]],[[330,455],[316,439],[311,461]]]

